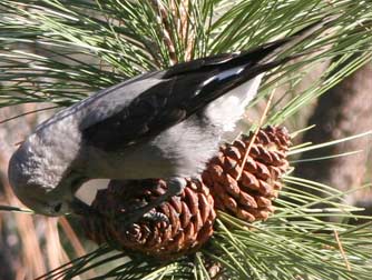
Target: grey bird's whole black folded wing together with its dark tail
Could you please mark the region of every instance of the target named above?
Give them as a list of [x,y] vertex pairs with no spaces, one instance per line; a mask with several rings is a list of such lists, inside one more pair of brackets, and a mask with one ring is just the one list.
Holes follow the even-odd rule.
[[[97,121],[81,128],[82,137],[91,146],[115,151],[156,136],[249,79],[293,59],[275,58],[278,50],[310,36],[321,26],[313,24],[287,39],[251,51],[219,54],[174,66],[157,72],[156,82],[154,76],[141,78],[137,84],[144,87],[144,90],[137,90],[135,98],[125,103],[119,102],[114,106],[115,109],[107,107]],[[148,83],[151,84],[146,86]],[[116,87],[104,99],[108,100],[110,96],[117,96],[117,92],[126,94],[129,87],[134,87],[134,83]]]

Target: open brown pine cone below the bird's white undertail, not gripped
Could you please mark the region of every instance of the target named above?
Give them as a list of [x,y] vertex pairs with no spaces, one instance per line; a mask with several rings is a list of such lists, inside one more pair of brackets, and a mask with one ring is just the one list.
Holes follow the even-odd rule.
[[274,212],[272,200],[282,188],[280,178],[288,168],[286,151],[291,144],[286,129],[261,129],[242,171],[252,138],[253,133],[243,134],[222,147],[202,176],[211,188],[216,209],[249,222],[266,220]]

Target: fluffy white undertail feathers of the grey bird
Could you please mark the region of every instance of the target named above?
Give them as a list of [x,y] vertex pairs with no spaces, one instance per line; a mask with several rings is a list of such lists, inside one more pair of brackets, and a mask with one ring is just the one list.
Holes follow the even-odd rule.
[[[239,71],[234,70],[235,73]],[[231,74],[225,73],[224,77]],[[262,77],[263,74],[260,74],[213,101],[206,109],[207,116],[224,131],[234,131],[236,122],[242,119],[245,112],[245,108],[256,96]]]

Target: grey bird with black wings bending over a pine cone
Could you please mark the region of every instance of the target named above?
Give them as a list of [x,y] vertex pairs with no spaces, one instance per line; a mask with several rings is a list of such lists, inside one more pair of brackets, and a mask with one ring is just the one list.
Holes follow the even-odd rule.
[[320,26],[252,50],[146,72],[60,110],[12,154],[8,177],[16,196],[40,214],[82,214],[89,206],[75,194],[88,180],[163,178],[167,193],[123,219],[151,218],[151,209],[185,188],[183,178],[200,174],[264,73],[296,57],[278,53]]

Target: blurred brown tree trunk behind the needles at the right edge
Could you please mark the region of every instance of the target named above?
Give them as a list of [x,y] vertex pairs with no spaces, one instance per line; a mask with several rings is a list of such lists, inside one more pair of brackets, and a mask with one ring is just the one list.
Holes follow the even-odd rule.
[[[372,64],[365,64],[323,94],[309,119],[309,124],[316,127],[304,134],[303,142],[321,143],[372,130]],[[296,176],[320,181],[342,191],[360,187],[366,181],[368,176],[372,176],[371,166],[368,167],[371,144],[371,137],[363,137],[326,149],[305,152],[302,159],[363,150],[353,156],[298,163]],[[346,200],[353,204],[371,207],[372,193],[371,190],[359,191],[347,196]]]

